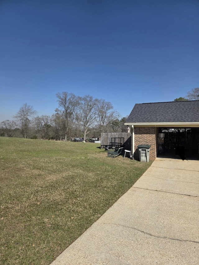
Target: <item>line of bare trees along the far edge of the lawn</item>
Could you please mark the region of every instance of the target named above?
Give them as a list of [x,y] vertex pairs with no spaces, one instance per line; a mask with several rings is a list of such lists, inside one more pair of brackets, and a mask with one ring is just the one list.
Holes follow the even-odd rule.
[[82,137],[97,138],[104,132],[126,132],[127,117],[120,114],[104,99],[84,97],[72,93],[57,93],[58,108],[50,117],[37,116],[37,111],[27,103],[13,116],[14,120],[0,123],[0,136],[32,139],[70,140]]

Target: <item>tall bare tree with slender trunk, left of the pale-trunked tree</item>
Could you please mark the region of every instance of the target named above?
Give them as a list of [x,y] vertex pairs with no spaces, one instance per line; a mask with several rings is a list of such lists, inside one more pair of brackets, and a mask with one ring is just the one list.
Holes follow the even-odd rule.
[[64,126],[65,126],[65,141],[67,141],[67,134],[74,120],[74,111],[78,104],[78,99],[74,94],[69,94],[67,92],[62,92],[62,94],[56,94],[58,98],[59,108],[56,112],[62,112],[64,117]]

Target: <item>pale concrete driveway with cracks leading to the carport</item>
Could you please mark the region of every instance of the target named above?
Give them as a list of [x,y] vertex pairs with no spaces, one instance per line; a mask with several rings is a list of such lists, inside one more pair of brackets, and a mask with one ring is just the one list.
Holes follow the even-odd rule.
[[52,265],[199,264],[199,161],[157,158]]

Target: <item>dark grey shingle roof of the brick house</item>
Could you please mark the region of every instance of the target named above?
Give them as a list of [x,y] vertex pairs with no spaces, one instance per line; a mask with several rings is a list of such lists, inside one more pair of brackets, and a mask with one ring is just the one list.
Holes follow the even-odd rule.
[[135,104],[126,122],[199,122],[199,100]]

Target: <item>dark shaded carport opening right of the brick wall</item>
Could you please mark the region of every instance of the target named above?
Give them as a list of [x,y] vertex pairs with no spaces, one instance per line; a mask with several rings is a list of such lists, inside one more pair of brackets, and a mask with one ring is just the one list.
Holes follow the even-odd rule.
[[159,128],[158,157],[199,159],[199,128]]

